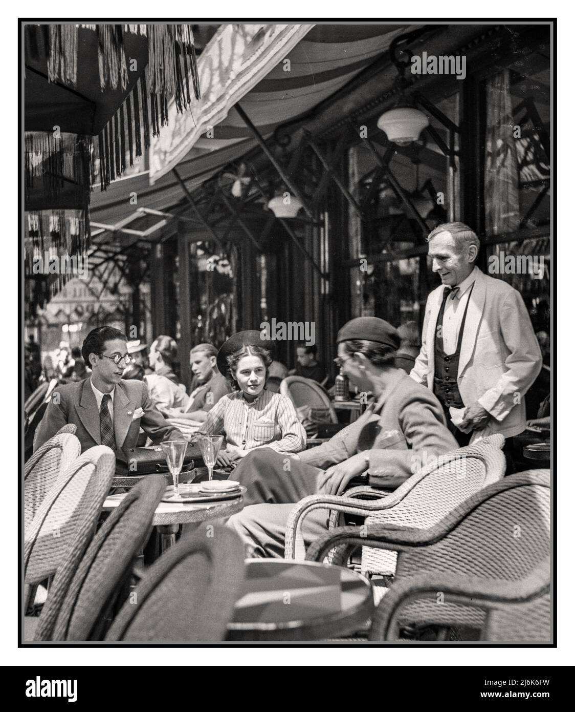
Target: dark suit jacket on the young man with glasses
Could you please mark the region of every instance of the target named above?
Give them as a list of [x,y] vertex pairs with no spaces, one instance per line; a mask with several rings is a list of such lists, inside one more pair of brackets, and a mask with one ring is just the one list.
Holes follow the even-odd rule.
[[[58,397],[55,397],[58,394]],[[134,417],[141,411],[141,417]],[[55,389],[41,424],[38,426],[38,449],[63,425],[73,423],[82,452],[100,445],[100,412],[90,379],[68,383]],[[183,439],[181,432],[163,419],[141,381],[120,381],[114,390],[114,435],[118,450],[136,447],[140,427],[154,441]]]

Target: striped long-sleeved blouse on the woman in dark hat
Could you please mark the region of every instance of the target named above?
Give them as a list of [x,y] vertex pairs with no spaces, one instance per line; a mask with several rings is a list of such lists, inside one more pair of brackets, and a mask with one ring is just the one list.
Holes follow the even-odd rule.
[[241,391],[220,398],[198,433],[223,434],[228,445],[242,450],[266,446],[279,452],[299,452],[306,447],[306,431],[294,404],[265,389],[252,403]]

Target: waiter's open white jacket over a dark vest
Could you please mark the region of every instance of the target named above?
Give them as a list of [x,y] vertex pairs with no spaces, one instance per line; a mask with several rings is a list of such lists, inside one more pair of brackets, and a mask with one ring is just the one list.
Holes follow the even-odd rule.
[[[461,342],[457,383],[467,406],[478,401],[493,417],[471,442],[492,433],[505,437],[525,430],[527,389],[541,370],[542,357],[520,293],[477,267]],[[435,328],[444,286],[427,298],[421,351],[412,379],[434,387]]]

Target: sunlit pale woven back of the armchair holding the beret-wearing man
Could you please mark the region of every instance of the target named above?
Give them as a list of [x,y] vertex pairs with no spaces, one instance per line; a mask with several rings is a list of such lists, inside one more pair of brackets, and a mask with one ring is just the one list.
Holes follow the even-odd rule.
[[[395,495],[406,494],[389,509],[367,518],[367,524],[385,523],[427,529],[434,526],[456,506],[481,488],[498,481],[505,474],[505,440],[495,434],[440,456],[425,464],[414,477],[398,488]],[[397,554],[370,547],[362,548],[362,572],[392,575]]]

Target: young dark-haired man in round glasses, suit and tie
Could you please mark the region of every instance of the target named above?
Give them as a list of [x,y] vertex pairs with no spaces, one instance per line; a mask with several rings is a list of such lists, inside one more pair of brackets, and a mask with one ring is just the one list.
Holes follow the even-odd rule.
[[68,423],[76,426],[82,452],[95,445],[107,445],[117,454],[127,451],[136,447],[140,428],[155,443],[183,439],[154,406],[145,383],[122,380],[131,356],[119,329],[92,329],[82,344],[82,358],[92,369],[90,377],[55,389],[34,449]]

